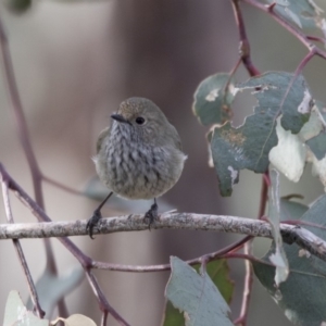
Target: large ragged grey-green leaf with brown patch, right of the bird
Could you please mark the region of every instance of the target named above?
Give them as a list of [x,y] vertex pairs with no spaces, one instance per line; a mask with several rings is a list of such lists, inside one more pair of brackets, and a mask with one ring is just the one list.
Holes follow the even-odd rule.
[[292,74],[272,72],[237,87],[239,91],[254,89],[259,105],[242,126],[234,128],[226,123],[213,129],[211,150],[222,196],[231,195],[240,170],[267,170],[269,151],[277,145],[276,121],[280,114],[281,126],[299,133],[312,109],[312,98],[301,75],[293,79]]

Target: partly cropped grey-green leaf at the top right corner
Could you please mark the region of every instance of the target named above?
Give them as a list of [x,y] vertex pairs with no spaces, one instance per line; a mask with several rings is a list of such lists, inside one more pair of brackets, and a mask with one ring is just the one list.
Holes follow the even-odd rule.
[[[265,3],[265,1],[262,1]],[[314,1],[311,0],[267,0],[267,3],[276,3],[274,11],[287,20],[294,23],[300,28],[321,28],[323,12]]]

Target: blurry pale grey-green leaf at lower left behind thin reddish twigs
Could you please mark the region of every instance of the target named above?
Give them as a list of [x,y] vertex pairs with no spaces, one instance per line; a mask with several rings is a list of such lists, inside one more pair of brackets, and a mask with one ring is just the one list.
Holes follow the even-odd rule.
[[[47,316],[51,316],[58,302],[72,292],[83,278],[84,271],[82,267],[74,268],[63,276],[54,275],[49,268],[45,269],[41,277],[36,281],[36,290]],[[26,305],[32,308],[30,298],[28,298]]]

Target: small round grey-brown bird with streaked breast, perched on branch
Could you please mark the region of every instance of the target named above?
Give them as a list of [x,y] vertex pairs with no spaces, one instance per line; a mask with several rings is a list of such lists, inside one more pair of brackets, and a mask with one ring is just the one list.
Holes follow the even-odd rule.
[[127,99],[111,117],[99,135],[93,161],[100,180],[112,191],[87,223],[91,238],[113,192],[126,199],[154,199],[145,215],[150,227],[158,217],[155,199],[176,184],[187,158],[176,128],[152,101]]

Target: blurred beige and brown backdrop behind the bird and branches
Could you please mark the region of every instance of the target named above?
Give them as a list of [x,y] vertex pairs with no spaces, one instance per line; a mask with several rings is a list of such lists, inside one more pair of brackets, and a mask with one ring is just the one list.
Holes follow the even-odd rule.
[[[325,2],[315,1],[326,8]],[[261,71],[293,72],[306,53],[297,39],[267,15],[241,5],[252,60]],[[238,30],[230,1],[124,0],[89,2],[39,1],[32,10],[14,14],[3,5],[1,20],[9,38],[15,75],[30,140],[45,175],[85,191],[95,176],[91,156],[98,134],[118,103],[131,96],[153,100],[177,127],[188,160],[178,184],[159,206],[180,212],[228,214],[255,218],[261,176],[243,171],[231,198],[221,198],[213,168],[208,165],[206,127],[191,111],[199,83],[217,72],[229,72],[238,60]],[[3,68],[3,67],[1,67]],[[304,76],[313,97],[326,101],[326,62],[313,59]],[[239,82],[248,78],[240,67]],[[234,105],[234,125],[252,113],[254,101],[240,96]],[[11,176],[33,197],[29,167],[17,138],[3,71],[0,78],[0,161]],[[302,179],[280,179],[280,193],[302,193],[310,203],[323,193],[319,181],[306,166]],[[89,218],[98,202],[45,184],[46,210],[53,221]],[[12,196],[16,222],[35,217]],[[114,210],[112,209],[114,208]],[[104,216],[145,212],[138,202],[110,203]],[[5,223],[3,204],[0,221]],[[153,230],[122,233],[72,240],[96,260],[120,264],[166,263],[171,255],[183,260],[216,251],[239,236],[204,231]],[[51,240],[60,275],[78,268],[74,256]],[[33,277],[46,266],[41,240],[22,240]],[[268,241],[255,240],[263,255]],[[256,249],[259,248],[259,250]],[[0,243],[0,321],[9,291],[28,297],[22,268],[11,241]],[[237,317],[243,286],[243,262],[231,261],[236,290],[231,303]],[[133,274],[96,271],[111,305],[131,325],[160,325],[164,289],[170,273]],[[71,314],[83,313],[100,322],[100,311],[84,279],[66,297]],[[266,319],[266,315],[273,318]],[[57,315],[54,311],[53,317]],[[116,325],[109,318],[109,325]],[[255,279],[248,325],[290,325]]]

